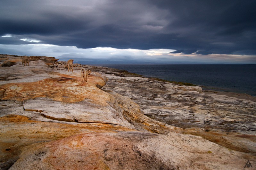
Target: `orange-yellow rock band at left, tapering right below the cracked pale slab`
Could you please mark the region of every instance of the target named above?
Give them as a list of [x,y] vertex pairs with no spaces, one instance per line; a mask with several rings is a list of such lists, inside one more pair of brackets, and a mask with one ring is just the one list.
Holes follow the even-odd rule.
[[[118,125],[98,123],[54,123],[29,120],[28,117],[19,115],[7,115],[0,117],[0,167],[8,169],[18,158],[24,147],[32,149],[35,146],[66,138],[72,135],[97,133],[134,131]],[[29,153],[24,149],[25,153]],[[31,153],[30,153],[31,154]],[[15,169],[15,168],[14,168]],[[25,169],[29,169],[28,167]]]

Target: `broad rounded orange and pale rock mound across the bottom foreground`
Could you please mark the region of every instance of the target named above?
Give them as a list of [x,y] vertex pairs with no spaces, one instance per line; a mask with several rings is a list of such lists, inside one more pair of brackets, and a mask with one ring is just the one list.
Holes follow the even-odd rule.
[[92,133],[25,147],[10,169],[242,169],[255,158],[194,135]]

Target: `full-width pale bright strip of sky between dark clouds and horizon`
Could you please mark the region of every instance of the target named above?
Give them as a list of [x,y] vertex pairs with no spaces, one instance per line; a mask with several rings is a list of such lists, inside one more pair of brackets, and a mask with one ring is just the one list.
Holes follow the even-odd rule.
[[[13,37],[4,35],[2,37]],[[36,44],[3,45],[0,44],[0,53],[27,56],[52,56],[60,61],[74,59],[78,61],[109,60],[113,61],[140,61],[152,63],[205,63],[205,64],[256,64],[256,57],[249,55],[227,54],[183,54],[170,53],[171,49],[116,49],[111,47],[96,47],[90,49],[77,48],[75,46],[59,46],[52,44],[40,44],[39,40],[19,38],[20,40]]]

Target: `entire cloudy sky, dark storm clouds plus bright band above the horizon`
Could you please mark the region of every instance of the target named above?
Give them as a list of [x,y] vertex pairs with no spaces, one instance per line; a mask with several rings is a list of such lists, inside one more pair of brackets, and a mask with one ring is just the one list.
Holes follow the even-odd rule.
[[255,0],[1,0],[0,53],[256,64]]

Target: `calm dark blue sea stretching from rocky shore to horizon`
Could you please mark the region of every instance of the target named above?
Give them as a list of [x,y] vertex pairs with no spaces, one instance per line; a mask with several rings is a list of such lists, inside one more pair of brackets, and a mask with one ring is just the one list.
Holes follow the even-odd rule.
[[95,64],[145,77],[186,82],[207,90],[256,96],[256,65],[236,64]]

